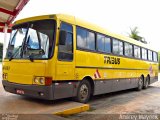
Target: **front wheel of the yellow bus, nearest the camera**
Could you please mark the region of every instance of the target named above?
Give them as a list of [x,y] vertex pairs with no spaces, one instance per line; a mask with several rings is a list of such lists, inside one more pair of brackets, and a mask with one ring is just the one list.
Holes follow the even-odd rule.
[[77,96],[75,100],[77,102],[86,103],[91,96],[91,84],[88,80],[84,79],[78,86]]

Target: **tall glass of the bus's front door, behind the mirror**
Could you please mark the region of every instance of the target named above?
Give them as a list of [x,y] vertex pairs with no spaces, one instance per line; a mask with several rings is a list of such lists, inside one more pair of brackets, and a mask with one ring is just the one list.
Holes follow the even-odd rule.
[[63,61],[73,60],[73,28],[72,25],[61,23],[60,30],[66,31],[67,39],[64,45],[58,46],[58,59]]

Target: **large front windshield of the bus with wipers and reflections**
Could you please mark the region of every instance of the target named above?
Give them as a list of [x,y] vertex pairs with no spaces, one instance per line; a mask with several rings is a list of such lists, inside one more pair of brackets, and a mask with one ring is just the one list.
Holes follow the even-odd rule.
[[50,58],[54,46],[54,28],[54,20],[38,20],[14,26],[5,58]]

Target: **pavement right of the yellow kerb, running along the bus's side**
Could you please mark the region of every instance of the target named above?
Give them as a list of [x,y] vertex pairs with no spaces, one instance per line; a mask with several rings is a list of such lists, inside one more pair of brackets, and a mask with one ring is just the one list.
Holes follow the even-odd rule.
[[[122,118],[123,120],[127,118],[127,120],[147,120],[148,117],[148,120],[157,120],[160,119],[160,81],[142,91],[131,89],[95,96],[89,104],[90,111],[68,118],[73,120],[119,120]],[[129,116],[122,116],[126,114]],[[140,119],[141,117],[143,119]]]

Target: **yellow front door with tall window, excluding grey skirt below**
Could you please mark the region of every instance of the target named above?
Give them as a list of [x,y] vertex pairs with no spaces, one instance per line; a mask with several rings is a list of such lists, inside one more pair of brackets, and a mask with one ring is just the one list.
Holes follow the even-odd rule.
[[58,59],[56,65],[57,80],[74,79],[73,27],[64,22],[61,23],[60,27]]

